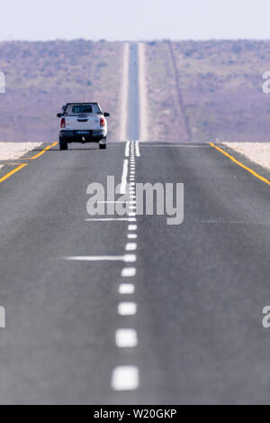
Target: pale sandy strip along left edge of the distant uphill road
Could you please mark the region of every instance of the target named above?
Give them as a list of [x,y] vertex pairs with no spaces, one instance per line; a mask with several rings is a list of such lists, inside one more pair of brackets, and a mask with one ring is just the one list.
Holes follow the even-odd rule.
[[129,100],[129,60],[130,60],[130,44],[128,42],[125,42],[123,44],[123,51],[122,51],[120,141],[127,140],[128,100]]

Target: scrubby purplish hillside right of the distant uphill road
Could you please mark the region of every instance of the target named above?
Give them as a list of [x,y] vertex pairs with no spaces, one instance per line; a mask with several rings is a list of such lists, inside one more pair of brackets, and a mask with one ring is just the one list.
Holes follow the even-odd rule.
[[153,41],[152,139],[270,141],[270,41]]

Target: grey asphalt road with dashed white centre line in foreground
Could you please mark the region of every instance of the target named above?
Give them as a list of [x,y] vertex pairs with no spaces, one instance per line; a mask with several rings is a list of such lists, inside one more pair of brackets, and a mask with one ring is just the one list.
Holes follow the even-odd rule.
[[[208,144],[32,154],[0,183],[0,402],[269,403],[269,186]],[[89,220],[88,185],[124,161],[184,183],[182,225]]]

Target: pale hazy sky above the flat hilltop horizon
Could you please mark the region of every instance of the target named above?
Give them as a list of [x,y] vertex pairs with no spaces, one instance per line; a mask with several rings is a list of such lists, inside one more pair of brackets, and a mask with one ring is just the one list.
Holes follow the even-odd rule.
[[270,0],[3,0],[0,40],[270,38]]

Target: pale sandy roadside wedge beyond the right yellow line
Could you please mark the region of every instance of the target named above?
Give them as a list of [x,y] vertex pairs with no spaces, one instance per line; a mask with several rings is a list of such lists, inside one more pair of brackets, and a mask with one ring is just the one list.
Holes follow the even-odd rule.
[[223,143],[247,159],[270,170],[270,143]]

